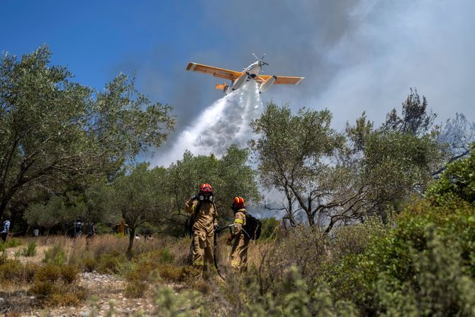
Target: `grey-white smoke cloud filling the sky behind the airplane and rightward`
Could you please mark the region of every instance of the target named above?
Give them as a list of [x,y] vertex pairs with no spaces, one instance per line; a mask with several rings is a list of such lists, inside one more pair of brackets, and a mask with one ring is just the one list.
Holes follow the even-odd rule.
[[[197,28],[188,30],[189,38],[199,40],[136,59],[143,65],[135,67],[138,78],[147,74],[143,90],[177,113],[177,132],[157,155],[169,151],[221,94],[213,89],[216,78],[186,72],[186,64],[240,70],[254,61],[252,52],[267,53],[271,65],[264,74],[306,77],[299,86],[271,87],[262,95],[264,104],[273,99],[294,109],[328,108],[339,129],[362,111],[381,123],[400,108],[409,87],[427,96],[440,121],[456,112],[474,121],[473,16],[471,0],[203,0]],[[187,52],[179,51],[183,47]],[[163,60],[177,65],[171,71],[150,67]]]

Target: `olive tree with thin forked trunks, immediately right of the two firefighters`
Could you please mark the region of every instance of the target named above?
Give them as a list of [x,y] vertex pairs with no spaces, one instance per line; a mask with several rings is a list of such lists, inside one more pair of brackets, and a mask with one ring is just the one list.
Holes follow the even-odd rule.
[[[321,211],[316,201],[326,199],[325,193],[335,189],[334,180],[328,179],[335,169],[330,158],[345,148],[345,138],[330,127],[331,118],[328,110],[301,109],[293,115],[289,106],[269,102],[262,116],[251,123],[259,135],[250,144],[260,182],[266,189],[286,194],[289,201],[296,199],[311,226]],[[292,207],[290,203],[286,210],[294,219]]]

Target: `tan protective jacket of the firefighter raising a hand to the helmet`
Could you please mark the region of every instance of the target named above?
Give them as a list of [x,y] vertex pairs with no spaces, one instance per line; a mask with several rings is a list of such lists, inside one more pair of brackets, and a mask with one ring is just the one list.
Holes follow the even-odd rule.
[[185,210],[187,213],[194,215],[194,232],[205,233],[206,235],[214,235],[214,227],[218,226],[218,211],[213,203],[209,201],[201,201],[199,212],[196,213],[199,201],[189,199],[185,203]]

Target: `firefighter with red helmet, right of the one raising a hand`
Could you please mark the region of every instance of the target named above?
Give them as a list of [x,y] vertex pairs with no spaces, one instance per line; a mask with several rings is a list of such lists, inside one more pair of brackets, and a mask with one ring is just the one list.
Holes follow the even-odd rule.
[[[245,272],[247,270],[247,249],[249,248],[250,235],[242,227],[246,225],[246,205],[242,197],[235,197],[233,201],[234,227],[233,233],[228,237],[228,245],[231,249],[231,267]],[[234,240],[234,243],[233,243]]]

